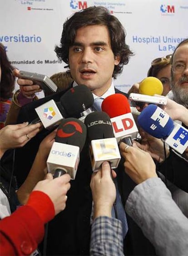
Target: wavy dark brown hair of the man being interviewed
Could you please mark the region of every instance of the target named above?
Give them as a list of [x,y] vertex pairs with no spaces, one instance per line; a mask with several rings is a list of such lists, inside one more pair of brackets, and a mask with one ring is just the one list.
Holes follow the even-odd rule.
[[59,59],[69,67],[69,47],[74,44],[76,31],[89,25],[105,25],[109,30],[111,47],[114,56],[120,56],[119,65],[114,66],[113,78],[123,71],[123,66],[128,64],[130,56],[134,55],[125,43],[126,31],[120,21],[111,15],[103,6],[92,6],[74,13],[64,22],[60,47],[55,46],[55,52]]

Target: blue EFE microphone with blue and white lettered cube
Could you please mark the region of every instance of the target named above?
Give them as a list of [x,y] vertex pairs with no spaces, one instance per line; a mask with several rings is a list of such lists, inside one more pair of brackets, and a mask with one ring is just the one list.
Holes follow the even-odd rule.
[[180,154],[188,147],[188,130],[173,122],[171,117],[157,105],[148,105],[138,117],[144,131],[163,141]]

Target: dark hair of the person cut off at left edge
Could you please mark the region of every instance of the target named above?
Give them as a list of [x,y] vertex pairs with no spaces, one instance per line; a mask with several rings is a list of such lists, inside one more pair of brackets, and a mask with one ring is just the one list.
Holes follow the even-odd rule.
[[6,55],[5,47],[0,43],[0,97],[7,100],[12,97],[15,89],[15,77],[12,74],[13,66]]

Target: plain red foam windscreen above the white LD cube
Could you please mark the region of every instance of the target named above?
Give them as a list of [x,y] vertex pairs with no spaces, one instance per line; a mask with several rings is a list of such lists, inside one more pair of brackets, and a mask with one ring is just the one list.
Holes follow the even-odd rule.
[[106,97],[103,100],[101,108],[110,118],[131,112],[128,99],[120,93],[115,93]]

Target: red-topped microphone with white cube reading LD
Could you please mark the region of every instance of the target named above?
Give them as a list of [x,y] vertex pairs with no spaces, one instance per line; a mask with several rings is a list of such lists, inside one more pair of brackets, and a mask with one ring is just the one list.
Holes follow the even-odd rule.
[[123,94],[116,93],[106,97],[101,107],[110,117],[118,143],[124,141],[132,146],[132,140],[137,138],[139,131],[131,114],[128,99]]

